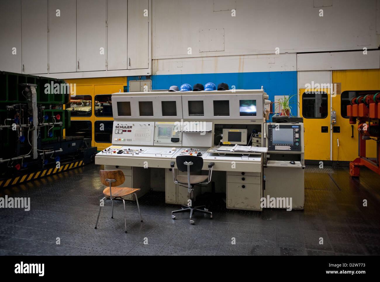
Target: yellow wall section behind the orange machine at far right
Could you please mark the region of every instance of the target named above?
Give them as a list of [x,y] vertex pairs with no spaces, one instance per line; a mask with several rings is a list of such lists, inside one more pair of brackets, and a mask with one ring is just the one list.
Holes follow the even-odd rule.
[[[341,83],[341,93],[345,92],[346,95],[347,92],[353,91],[379,90],[380,70],[332,71],[332,83]],[[340,127],[339,133],[332,133],[332,160],[353,161],[358,157],[358,123],[353,125],[351,138],[351,124],[348,118],[342,117],[341,98],[344,97],[341,95],[332,98],[332,108],[336,111],[336,126]],[[376,157],[376,141],[366,141],[366,156]]]

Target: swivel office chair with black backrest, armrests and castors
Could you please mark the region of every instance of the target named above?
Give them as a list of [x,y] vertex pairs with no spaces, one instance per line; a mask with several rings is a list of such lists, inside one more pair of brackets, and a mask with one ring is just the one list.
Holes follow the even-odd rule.
[[[187,212],[190,211],[190,223],[194,224],[194,220],[192,220],[193,212],[199,211],[204,214],[210,214],[210,218],[212,218],[212,212],[206,209],[206,206],[194,206],[194,185],[196,184],[209,184],[211,181],[212,174],[212,166],[215,163],[209,163],[209,174],[208,175],[190,175],[190,172],[201,171],[203,167],[203,158],[198,156],[178,156],[176,158],[177,168],[180,171],[187,171],[187,175],[177,175],[177,178],[174,174],[174,165],[175,162],[170,163],[171,171],[173,173],[173,181],[174,183],[186,184],[187,186],[180,185],[183,187],[187,187],[188,193],[190,193],[190,206],[182,205],[182,208],[177,211],[171,212],[171,217],[173,219],[176,218],[174,215],[177,212]],[[203,208],[203,209],[201,209]]]

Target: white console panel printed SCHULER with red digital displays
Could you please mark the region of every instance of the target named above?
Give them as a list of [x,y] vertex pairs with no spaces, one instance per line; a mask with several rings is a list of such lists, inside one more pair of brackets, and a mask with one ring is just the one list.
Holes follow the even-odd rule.
[[154,122],[114,121],[112,144],[114,145],[153,145]]

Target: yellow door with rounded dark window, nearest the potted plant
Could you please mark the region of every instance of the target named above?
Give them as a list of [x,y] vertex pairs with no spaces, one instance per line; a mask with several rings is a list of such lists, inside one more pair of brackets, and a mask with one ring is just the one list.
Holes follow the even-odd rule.
[[[304,118],[305,160],[330,161],[330,102],[320,89],[299,90],[300,116]],[[329,164],[329,163],[327,163]]]

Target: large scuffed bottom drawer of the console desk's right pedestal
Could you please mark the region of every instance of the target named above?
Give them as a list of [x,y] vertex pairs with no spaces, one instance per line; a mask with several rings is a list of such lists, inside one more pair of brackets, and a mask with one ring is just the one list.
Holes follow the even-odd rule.
[[260,211],[260,200],[260,184],[227,182],[227,208]]

